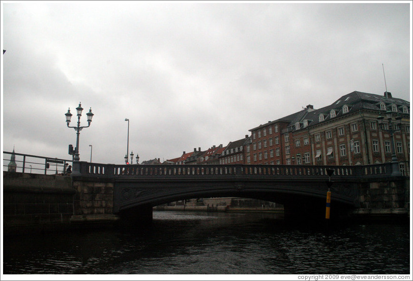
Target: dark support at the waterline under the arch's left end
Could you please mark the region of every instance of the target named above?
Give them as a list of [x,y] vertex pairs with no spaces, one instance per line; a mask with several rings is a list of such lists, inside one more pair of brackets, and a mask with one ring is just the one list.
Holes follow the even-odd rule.
[[152,206],[133,207],[119,212],[120,225],[127,229],[152,223]]

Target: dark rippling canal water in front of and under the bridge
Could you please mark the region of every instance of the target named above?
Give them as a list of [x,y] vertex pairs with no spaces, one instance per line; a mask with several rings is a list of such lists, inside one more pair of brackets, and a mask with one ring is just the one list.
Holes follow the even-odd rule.
[[154,211],[151,226],[4,237],[4,274],[409,274],[407,224]]

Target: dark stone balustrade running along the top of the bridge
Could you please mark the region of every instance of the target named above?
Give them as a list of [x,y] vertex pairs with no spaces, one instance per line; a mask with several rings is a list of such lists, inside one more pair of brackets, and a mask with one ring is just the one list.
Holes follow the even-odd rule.
[[360,166],[307,165],[114,165],[81,162],[82,174],[107,177],[166,177],[166,176],[294,176],[335,178],[386,177],[392,173],[391,163]]

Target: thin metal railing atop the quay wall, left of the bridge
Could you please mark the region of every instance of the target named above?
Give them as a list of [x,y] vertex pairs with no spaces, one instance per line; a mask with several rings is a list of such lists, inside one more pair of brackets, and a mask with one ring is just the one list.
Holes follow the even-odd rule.
[[[9,165],[12,155],[15,157],[16,165]],[[64,174],[66,163],[72,165],[72,160],[3,151],[3,171],[44,175]]]

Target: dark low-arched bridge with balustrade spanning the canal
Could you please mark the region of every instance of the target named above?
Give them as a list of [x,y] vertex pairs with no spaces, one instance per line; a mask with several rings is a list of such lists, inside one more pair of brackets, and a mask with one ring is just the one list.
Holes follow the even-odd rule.
[[[113,187],[106,189],[111,194],[101,194],[100,197],[108,199],[112,195],[112,213],[134,219],[152,218],[152,207],[164,203],[223,196],[280,203],[284,205],[286,216],[323,217],[329,182],[328,170],[333,172],[330,189],[335,212],[332,217],[333,214],[346,214],[351,209],[365,207],[373,183],[381,182],[382,186],[386,185],[393,190],[389,193],[392,197],[390,200],[397,203],[388,203],[388,206],[383,207],[397,209],[402,204],[399,201],[404,202],[404,197],[399,200],[400,192],[405,193],[404,190],[400,191],[404,187],[389,182],[391,163],[305,166],[111,165],[81,162],[82,176],[74,177],[73,180],[77,182],[75,186],[78,186],[80,195],[77,209],[85,210],[85,204],[91,205],[91,198],[99,198],[98,194],[90,194],[91,188],[84,189],[82,186],[94,186],[94,182],[96,186],[97,182],[101,184],[106,181]],[[96,188],[92,189],[96,191]],[[82,192],[85,190],[86,193],[83,194],[86,200],[82,200]],[[93,209],[93,206],[90,207]],[[96,212],[92,209],[85,212]]]

